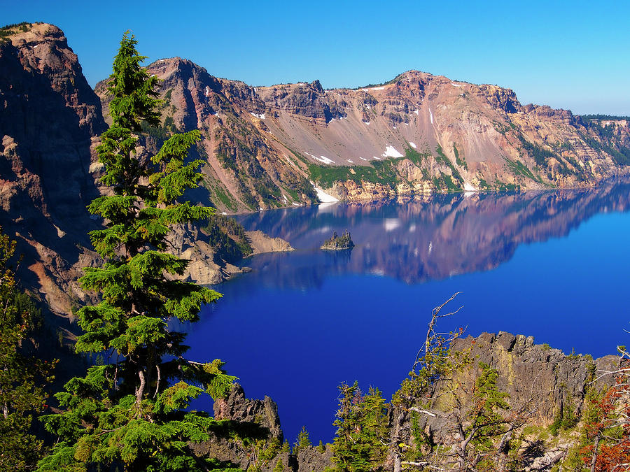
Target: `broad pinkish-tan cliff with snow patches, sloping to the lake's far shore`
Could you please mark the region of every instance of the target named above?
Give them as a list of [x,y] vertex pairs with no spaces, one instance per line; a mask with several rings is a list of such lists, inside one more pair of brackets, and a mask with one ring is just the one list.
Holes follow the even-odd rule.
[[[342,199],[587,186],[630,162],[602,148],[601,134],[570,111],[521,106],[512,90],[493,85],[409,71],[375,87],[323,90],[311,106],[305,88],[312,89],[258,89],[269,110],[265,124],[316,164],[311,178]],[[280,91],[293,92],[301,106],[286,106]],[[314,113],[323,103],[335,113]]]

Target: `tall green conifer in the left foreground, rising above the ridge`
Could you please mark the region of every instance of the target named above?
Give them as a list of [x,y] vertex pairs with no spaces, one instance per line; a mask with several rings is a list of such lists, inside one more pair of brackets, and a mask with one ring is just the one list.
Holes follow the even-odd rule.
[[195,456],[191,442],[209,438],[216,424],[205,413],[188,411],[190,400],[207,393],[224,395],[233,377],[219,360],[197,363],[183,355],[185,335],[167,320],[195,322],[202,303],[220,294],[177,280],[188,261],[167,252],[174,225],[207,219],[214,209],[181,201],[197,187],[201,161],[186,163],[199,131],[169,138],[151,159],[135,153],[143,122],[160,123],[158,79],[141,68],[145,57],[129,32],[113,62],[109,93],[112,126],[102,135],[102,182],[113,194],[94,199],[88,209],[106,222],[90,233],[104,259],[85,268],[84,289],[102,301],[78,311],[84,334],[77,352],[106,352],[106,363],[73,378],[56,394],[62,413],[43,417],[58,437],[42,471],[120,470],[197,471],[218,464]]

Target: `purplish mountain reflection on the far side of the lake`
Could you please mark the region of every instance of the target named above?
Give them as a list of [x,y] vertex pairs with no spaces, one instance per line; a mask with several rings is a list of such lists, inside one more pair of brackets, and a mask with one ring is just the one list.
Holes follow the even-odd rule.
[[[617,183],[597,189],[324,203],[239,215],[237,220],[248,230],[286,239],[296,250],[244,262],[256,271],[274,273],[265,285],[307,288],[335,273],[372,273],[420,283],[487,271],[509,260],[522,243],[566,236],[596,213],[629,206],[630,183]],[[319,251],[332,231],[344,229],[356,243],[351,252]]]

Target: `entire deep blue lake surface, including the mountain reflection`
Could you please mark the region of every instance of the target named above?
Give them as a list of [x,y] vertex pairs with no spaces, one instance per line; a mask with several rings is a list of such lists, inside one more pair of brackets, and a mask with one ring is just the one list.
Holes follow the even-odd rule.
[[[239,215],[295,251],[246,260],[251,273],[190,331],[190,357],[221,358],[248,398],[278,403],[293,443],[331,441],[337,386],[386,400],[405,378],[430,311],[463,292],[442,331],[534,336],[594,357],[629,345],[630,184],[521,194],[409,197]],[[325,252],[332,231],[356,248]],[[208,406],[204,406],[208,408]]]

